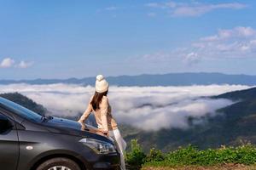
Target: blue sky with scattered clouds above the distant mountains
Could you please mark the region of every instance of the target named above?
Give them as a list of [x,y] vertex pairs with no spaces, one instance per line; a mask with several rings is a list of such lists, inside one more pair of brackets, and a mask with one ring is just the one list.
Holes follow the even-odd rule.
[[256,2],[0,1],[0,79],[256,75]]

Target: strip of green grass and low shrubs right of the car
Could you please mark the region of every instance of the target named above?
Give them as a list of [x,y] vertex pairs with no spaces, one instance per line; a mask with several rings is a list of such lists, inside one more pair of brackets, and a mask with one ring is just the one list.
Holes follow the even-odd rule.
[[215,166],[237,163],[253,165],[256,163],[256,146],[243,144],[236,147],[222,146],[218,149],[198,150],[189,145],[184,148],[162,153],[151,149],[145,154],[137,140],[131,141],[131,151],[126,153],[126,162],[132,169],[140,167],[178,167],[178,166]]

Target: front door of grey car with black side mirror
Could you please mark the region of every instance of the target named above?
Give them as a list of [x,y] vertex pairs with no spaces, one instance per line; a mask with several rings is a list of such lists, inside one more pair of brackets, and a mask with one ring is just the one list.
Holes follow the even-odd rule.
[[19,141],[15,122],[0,111],[0,169],[15,170],[19,159]]

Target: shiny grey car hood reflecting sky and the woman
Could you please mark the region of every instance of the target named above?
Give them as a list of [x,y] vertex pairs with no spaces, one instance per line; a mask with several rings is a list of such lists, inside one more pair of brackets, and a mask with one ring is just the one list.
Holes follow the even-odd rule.
[[53,117],[47,122],[42,122],[42,125],[51,133],[62,133],[74,136],[81,136],[113,143],[113,140],[102,135],[97,131],[96,127],[87,124],[81,124],[69,119]]

